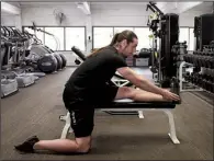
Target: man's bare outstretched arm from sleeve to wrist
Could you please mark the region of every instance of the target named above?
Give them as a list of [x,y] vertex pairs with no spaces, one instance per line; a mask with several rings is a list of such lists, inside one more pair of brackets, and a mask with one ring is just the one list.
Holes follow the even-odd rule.
[[161,88],[158,88],[157,85],[151,83],[149,80],[147,80],[143,76],[137,74],[131,68],[123,67],[123,68],[119,68],[116,71],[120,74],[122,74],[125,79],[131,81],[133,84],[135,84],[137,88],[148,91],[148,92],[162,95],[164,90]]

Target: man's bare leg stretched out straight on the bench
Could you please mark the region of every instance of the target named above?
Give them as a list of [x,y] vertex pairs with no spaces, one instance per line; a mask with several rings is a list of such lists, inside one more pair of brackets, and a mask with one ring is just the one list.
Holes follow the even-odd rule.
[[139,89],[133,89],[127,87],[119,88],[119,91],[115,96],[116,100],[119,99],[132,99],[134,101],[167,101],[162,97],[162,95],[150,93]]

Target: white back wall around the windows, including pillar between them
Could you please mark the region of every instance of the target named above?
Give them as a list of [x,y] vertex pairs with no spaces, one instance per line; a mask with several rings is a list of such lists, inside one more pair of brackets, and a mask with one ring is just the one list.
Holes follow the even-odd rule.
[[[22,4],[21,24],[22,26],[32,25],[35,22],[37,26],[59,26],[54,16],[54,10],[60,10],[66,20],[61,23],[61,26],[86,26],[87,37],[91,36],[92,26],[146,26],[148,14],[145,10],[145,4],[139,3],[126,3],[120,2],[91,3],[91,16],[86,15],[79,10],[76,3],[45,3],[45,2],[32,2]],[[189,10],[185,13],[180,14],[180,26],[194,26],[194,16],[207,13],[210,9]],[[2,25],[16,26],[18,19],[14,16],[3,15],[1,18]],[[92,42],[87,41],[87,53],[92,47]],[[68,65],[75,66],[70,51],[66,51],[66,57],[69,57]]]

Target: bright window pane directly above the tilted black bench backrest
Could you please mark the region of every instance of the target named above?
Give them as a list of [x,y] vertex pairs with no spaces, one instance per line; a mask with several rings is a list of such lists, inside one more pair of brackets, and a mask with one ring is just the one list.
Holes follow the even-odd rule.
[[66,50],[70,50],[72,46],[86,50],[85,27],[66,27]]

